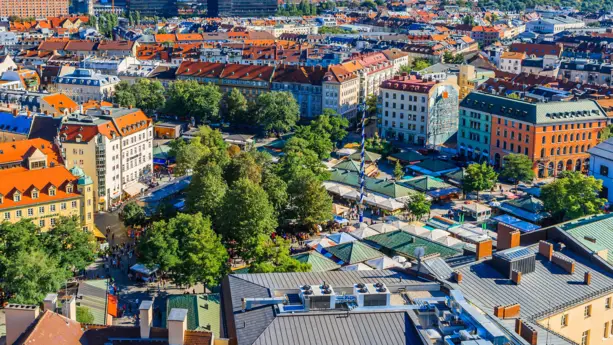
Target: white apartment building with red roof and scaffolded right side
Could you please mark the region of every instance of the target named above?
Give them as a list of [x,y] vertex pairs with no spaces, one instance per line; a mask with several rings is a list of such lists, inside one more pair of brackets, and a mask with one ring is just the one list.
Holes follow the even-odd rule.
[[379,96],[381,136],[422,146],[445,144],[458,130],[458,95],[455,83],[406,73],[386,80]]

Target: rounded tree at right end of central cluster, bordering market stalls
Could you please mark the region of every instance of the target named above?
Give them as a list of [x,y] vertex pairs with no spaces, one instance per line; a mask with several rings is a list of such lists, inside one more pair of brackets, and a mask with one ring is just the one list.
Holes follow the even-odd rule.
[[310,227],[332,219],[332,198],[321,181],[308,170],[301,171],[288,183],[290,217]]

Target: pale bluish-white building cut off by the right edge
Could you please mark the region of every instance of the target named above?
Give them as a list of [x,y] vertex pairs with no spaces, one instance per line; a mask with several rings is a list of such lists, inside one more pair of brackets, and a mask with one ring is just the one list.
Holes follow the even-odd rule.
[[600,196],[613,201],[613,138],[587,151],[590,154],[588,174],[602,180]]

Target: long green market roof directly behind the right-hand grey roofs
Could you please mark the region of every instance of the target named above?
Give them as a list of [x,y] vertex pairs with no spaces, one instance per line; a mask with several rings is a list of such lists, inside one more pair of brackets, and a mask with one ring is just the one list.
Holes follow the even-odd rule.
[[416,259],[414,253],[417,247],[424,248],[425,256],[440,254],[442,258],[448,258],[462,254],[459,250],[413,236],[402,230],[366,237],[365,240],[390,250],[394,254],[401,254],[411,259]]

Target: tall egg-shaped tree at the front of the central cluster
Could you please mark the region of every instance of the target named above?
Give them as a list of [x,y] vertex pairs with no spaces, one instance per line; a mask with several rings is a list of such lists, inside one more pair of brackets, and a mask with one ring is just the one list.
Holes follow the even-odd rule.
[[228,190],[215,223],[224,242],[246,258],[249,258],[249,249],[257,245],[259,236],[269,236],[277,227],[268,195],[246,178],[236,181]]

